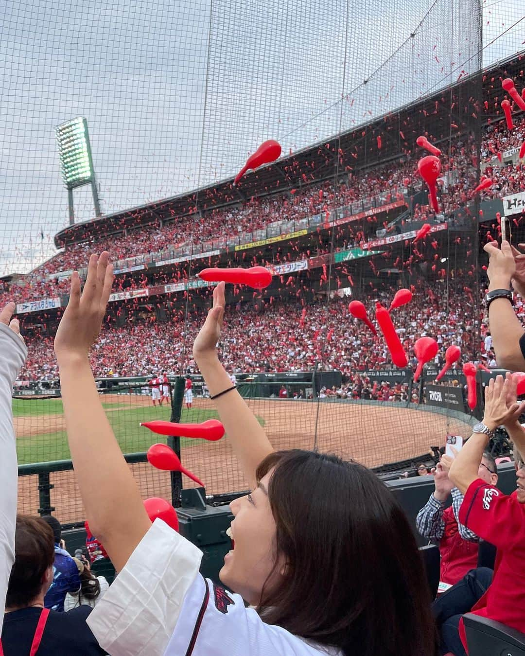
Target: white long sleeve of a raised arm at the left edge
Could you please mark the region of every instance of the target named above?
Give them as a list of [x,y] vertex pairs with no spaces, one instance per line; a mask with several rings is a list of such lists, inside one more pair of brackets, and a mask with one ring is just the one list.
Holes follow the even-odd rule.
[[0,634],[5,596],[14,563],[14,527],[18,463],[12,425],[12,386],[26,361],[28,349],[9,326],[0,323]]

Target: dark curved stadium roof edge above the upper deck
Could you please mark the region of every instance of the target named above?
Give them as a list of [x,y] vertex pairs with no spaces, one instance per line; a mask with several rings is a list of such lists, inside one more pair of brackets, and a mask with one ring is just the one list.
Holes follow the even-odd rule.
[[[341,139],[349,138],[349,136],[356,134],[359,131],[362,131],[363,129],[374,125],[377,126],[376,129],[378,129],[378,134],[381,134],[382,131],[380,126],[381,123],[384,121],[385,117],[392,115],[393,113],[406,112],[409,108],[414,110],[414,108],[417,108],[418,106],[424,106],[425,103],[430,102],[431,100],[435,99],[436,96],[439,96],[440,94],[449,91],[450,89],[464,87],[465,85],[472,83],[480,75],[486,75],[487,73],[490,72],[496,72],[498,69],[501,69],[509,64],[513,64],[513,63],[519,64],[520,59],[524,56],[524,54],[525,51],[521,51],[513,56],[510,56],[503,60],[499,60],[498,62],[494,62],[489,67],[480,70],[480,72],[473,73],[461,79],[461,81],[457,81],[457,83],[454,85],[449,85],[448,87],[442,87],[441,89],[431,92],[425,96],[421,96],[417,100],[407,103],[404,106],[400,106],[396,110],[384,113],[383,115],[372,118],[369,121],[364,121],[363,123],[360,123],[359,125],[341,134],[332,135],[328,138],[324,138],[322,140],[319,140],[318,142],[315,142],[315,144],[311,144],[309,146],[305,146],[304,148],[301,148],[300,150],[296,150],[292,155],[288,155],[283,159],[279,159],[274,164],[269,164],[266,165],[265,167],[261,167],[260,169],[258,169],[257,176],[248,174],[248,176],[244,178],[243,185],[240,188],[233,187],[232,185],[233,176],[231,176],[223,180],[220,180],[218,182],[214,182],[212,184],[208,184],[206,186],[193,189],[188,192],[182,192],[181,194],[176,194],[174,196],[159,199],[151,203],[145,203],[144,205],[137,205],[136,207],[115,212],[110,215],[93,218],[87,221],[73,224],[73,226],[67,226],[66,228],[63,228],[55,235],[54,237],[55,246],[57,248],[62,248],[68,243],[86,241],[90,237],[95,237],[95,236],[106,236],[107,234],[111,234],[112,232],[121,232],[125,230],[125,228],[132,228],[132,229],[140,228],[147,224],[151,224],[155,222],[155,220],[159,220],[159,219],[170,220],[174,218],[174,216],[186,216],[186,215],[191,216],[193,215],[194,207],[197,207],[198,211],[202,211],[202,210],[206,211],[208,209],[218,209],[219,207],[225,207],[227,205],[237,205],[237,203],[242,201],[243,197],[252,197],[252,196],[264,197],[265,195],[272,195],[278,192],[286,191],[288,188],[294,186],[294,184],[298,184],[299,186],[301,186],[301,179],[299,173],[295,174],[296,176],[298,176],[298,179],[296,182],[294,182],[294,180],[290,179],[289,174],[285,175],[284,171],[282,171],[282,167],[283,166],[286,167],[286,163],[289,160],[294,160],[294,159],[296,160],[298,158],[304,157],[305,155],[308,155],[308,159],[312,159],[312,157],[314,157],[315,159],[320,160],[321,158],[317,157],[317,155],[319,154],[321,148],[323,148],[326,144],[330,144],[330,142],[333,142],[338,138]],[[359,142],[359,138],[357,139],[357,142]],[[436,142],[438,143],[439,140],[436,140]],[[405,156],[402,154],[402,152],[391,152],[391,154],[387,155],[385,149],[383,149],[381,155],[382,156],[380,159],[378,158],[375,159],[374,161],[372,161],[372,159],[368,159],[368,161],[365,161],[365,163],[362,166],[356,166],[354,165],[355,162],[352,161],[351,163],[353,164],[353,166],[351,168],[354,170],[366,169],[366,168],[377,166],[379,161],[381,161],[381,163],[383,164],[387,164],[389,163],[389,161],[392,161],[394,159],[399,159],[399,157]],[[326,166],[326,161],[325,161],[325,166]],[[325,169],[325,167],[323,167],[321,164],[321,167],[319,169],[321,175],[319,175],[317,179],[312,180],[308,184],[314,184],[315,182],[322,182],[334,176],[333,165],[331,165],[329,169],[325,169],[324,175],[322,174],[322,169]],[[274,178],[273,182],[277,182],[277,185],[275,186],[275,188],[270,188],[268,190],[268,188],[271,186],[272,174],[275,173],[278,173],[278,175],[277,177]],[[345,174],[345,168],[341,167],[339,173],[341,175]],[[264,179],[261,179],[262,174],[265,174]],[[288,180],[286,180],[286,178],[288,178]],[[282,182],[284,182],[284,184],[281,184]],[[250,190],[248,190],[248,186],[250,187]],[[226,190],[229,191],[231,197],[229,199],[225,198],[223,202],[213,204],[210,207],[199,207],[199,196],[202,197],[203,195],[206,194],[208,190],[217,190],[220,188],[223,188],[225,191]],[[265,189],[267,190],[266,193],[264,193],[263,191]],[[176,211],[177,207],[179,208],[178,211]],[[140,218],[140,220],[137,220],[137,218]],[[126,222],[128,222],[128,224],[126,224]]]

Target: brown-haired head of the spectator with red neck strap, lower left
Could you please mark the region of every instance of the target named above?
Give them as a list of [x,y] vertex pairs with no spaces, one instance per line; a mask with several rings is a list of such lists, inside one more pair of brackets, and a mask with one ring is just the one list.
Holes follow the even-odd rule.
[[54,536],[50,525],[39,517],[16,516],[14,553],[6,609],[43,606],[53,581]]

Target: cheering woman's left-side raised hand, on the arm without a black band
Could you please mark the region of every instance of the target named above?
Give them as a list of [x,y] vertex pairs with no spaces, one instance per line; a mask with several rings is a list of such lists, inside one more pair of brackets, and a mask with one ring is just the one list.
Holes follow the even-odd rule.
[[54,338],[57,359],[66,356],[87,357],[100,333],[112,284],[113,264],[109,264],[109,254],[106,251],[100,257],[92,255],[89,258],[82,293],[79,274],[73,272],[68,307]]

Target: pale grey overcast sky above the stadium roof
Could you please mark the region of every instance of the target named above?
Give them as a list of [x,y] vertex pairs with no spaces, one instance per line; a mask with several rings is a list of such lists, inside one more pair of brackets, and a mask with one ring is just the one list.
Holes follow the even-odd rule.
[[[7,0],[0,274],[52,255],[68,223],[56,125],[87,118],[104,214],[142,205],[236,173],[267,138],[288,154],[473,72],[475,6]],[[509,30],[524,14],[522,0],[484,3],[485,66],[525,48],[525,20]],[[75,214],[93,218],[89,186]]]

